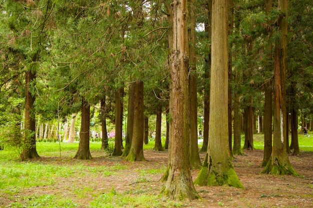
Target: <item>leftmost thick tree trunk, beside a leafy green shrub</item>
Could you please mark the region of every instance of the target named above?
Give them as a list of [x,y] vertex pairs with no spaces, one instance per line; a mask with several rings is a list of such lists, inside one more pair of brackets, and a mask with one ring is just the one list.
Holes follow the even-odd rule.
[[29,91],[30,84],[35,82],[35,75],[35,69],[33,69],[33,67],[30,67],[30,69],[25,72],[25,123],[23,132],[23,149],[20,154],[21,160],[39,158],[36,150],[36,125],[35,112],[33,111],[35,97]]

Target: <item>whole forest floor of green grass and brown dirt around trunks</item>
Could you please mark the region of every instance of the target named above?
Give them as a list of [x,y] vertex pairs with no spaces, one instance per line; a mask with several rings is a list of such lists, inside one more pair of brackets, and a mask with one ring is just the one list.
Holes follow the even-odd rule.
[[[260,141],[257,136],[256,146]],[[302,138],[301,138],[302,139]],[[309,138],[305,138],[309,143]],[[301,140],[300,140],[301,141]],[[303,141],[303,139],[302,139]],[[311,144],[313,144],[311,142]],[[149,146],[152,142],[149,143]],[[1,208],[310,208],[313,207],[313,152],[289,156],[302,177],[260,174],[263,151],[243,150],[234,156],[234,170],[243,189],[195,186],[201,197],[192,201],[158,198],[165,185],[160,179],[167,151],[144,145],[145,161],[128,162],[99,150],[91,143],[92,160],[72,159],[78,144],[38,143],[39,159],[20,162],[0,151]],[[300,148],[303,149],[304,147]],[[311,149],[312,146],[307,147]],[[305,149],[306,150],[306,149]],[[44,151],[44,152],[43,152]],[[205,153],[200,153],[201,161]],[[192,179],[199,170],[191,170]]]

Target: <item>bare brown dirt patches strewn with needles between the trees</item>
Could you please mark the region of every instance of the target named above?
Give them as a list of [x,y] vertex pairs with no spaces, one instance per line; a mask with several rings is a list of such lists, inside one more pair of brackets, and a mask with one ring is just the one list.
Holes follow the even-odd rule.
[[[24,190],[25,193],[19,195],[33,194],[56,194],[70,197],[80,205],[80,208],[87,208],[89,201],[94,199],[94,195],[77,197],[70,191],[70,187],[85,188],[90,186],[91,192],[101,194],[111,190],[112,187],[119,193],[125,193],[135,189],[149,189],[157,195],[164,182],[159,182],[162,177],[161,172],[148,170],[165,169],[167,165],[167,152],[155,152],[145,150],[143,162],[126,162],[119,157],[100,155],[100,152],[91,153],[93,160],[78,161],[65,159],[62,163],[67,165],[80,164],[82,166],[113,166],[115,164],[127,165],[126,169],[116,170],[117,174],[103,176],[103,174],[92,176],[61,177],[55,179],[51,186],[32,187]],[[97,155],[98,154],[98,155]],[[102,153],[103,154],[103,153]],[[203,160],[205,154],[201,153]],[[289,155],[289,160],[294,169],[302,177],[294,176],[271,176],[260,174],[263,168],[260,167],[263,158],[263,151],[244,151],[244,155],[235,156],[232,164],[241,181],[244,189],[233,187],[209,187],[195,186],[201,200],[183,202],[182,207],[186,208],[313,208],[313,152],[301,152],[300,156]],[[46,163],[59,163],[56,158],[39,159]],[[192,170],[193,180],[198,175],[199,170]],[[144,174],[142,174],[144,173]],[[138,180],[144,177],[145,180]],[[7,202],[9,203],[9,202]]]

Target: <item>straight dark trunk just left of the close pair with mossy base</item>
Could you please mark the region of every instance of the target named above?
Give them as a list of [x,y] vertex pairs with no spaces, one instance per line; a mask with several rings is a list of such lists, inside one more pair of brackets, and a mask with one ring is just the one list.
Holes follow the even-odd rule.
[[122,146],[122,97],[123,97],[123,87],[118,87],[115,91],[115,144],[114,144],[114,152],[113,156],[121,156],[121,146]]

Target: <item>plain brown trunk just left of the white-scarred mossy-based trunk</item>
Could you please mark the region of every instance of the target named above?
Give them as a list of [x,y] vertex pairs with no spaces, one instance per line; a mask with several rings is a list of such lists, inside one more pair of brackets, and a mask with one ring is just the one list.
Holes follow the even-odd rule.
[[272,139],[271,139],[271,117],[272,117],[272,93],[271,87],[265,88],[264,99],[264,156],[261,163],[262,167],[265,167],[269,161],[272,151]]

